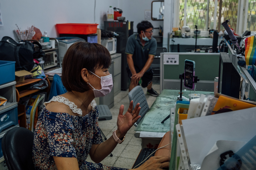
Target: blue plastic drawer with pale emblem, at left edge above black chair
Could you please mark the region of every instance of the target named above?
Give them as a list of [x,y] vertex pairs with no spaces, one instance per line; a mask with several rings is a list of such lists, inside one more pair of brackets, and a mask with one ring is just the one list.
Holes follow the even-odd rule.
[[18,105],[0,111],[0,133],[11,126],[19,125]]

